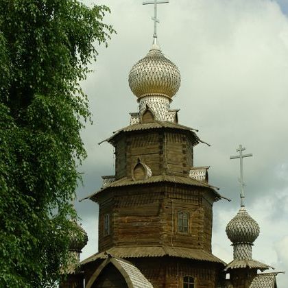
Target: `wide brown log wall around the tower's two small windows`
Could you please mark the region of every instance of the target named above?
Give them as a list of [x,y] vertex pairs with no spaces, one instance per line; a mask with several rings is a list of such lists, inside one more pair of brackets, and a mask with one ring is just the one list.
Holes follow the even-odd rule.
[[[99,252],[116,245],[167,245],[211,252],[212,204],[206,189],[155,183],[106,191],[99,200]],[[187,233],[178,231],[178,212],[189,214]],[[110,234],[104,218],[110,215]]]

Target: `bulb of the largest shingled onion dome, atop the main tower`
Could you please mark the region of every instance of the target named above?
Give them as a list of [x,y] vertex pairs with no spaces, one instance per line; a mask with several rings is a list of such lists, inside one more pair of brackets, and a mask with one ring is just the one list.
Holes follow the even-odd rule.
[[129,86],[136,97],[162,95],[173,97],[180,87],[180,72],[173,62],[165,58],[157,43],[143,59],[132,67]]

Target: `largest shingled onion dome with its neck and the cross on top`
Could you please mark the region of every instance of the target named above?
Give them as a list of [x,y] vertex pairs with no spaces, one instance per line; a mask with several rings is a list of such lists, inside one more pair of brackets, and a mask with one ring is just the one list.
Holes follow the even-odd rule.
[[[129,86],[139,101],[138,116],[132,118],[133,123],[141,120],[143,112],[149,106],[154,119],[174,121],[176,112],[169,110],[172,97],[176,95],[181,82],[180,72],[171,60],[167,59],[157,43],[157,4],[169,3],[168,0],[148,0],[143,5],[154,4],[154,40],[147,55],[133,65],[129,73]],[[171,118],[172,115],[172,118]],[[170,119],[170,120],[169,120]],[[136,122],[134,122],[136,121]]]

